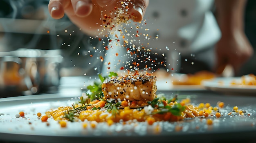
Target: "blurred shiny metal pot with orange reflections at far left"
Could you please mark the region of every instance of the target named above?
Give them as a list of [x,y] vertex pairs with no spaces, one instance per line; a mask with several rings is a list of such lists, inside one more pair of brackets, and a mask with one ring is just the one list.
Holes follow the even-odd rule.
[[0,97],[34,95],[59,85],[59,50],[0,52]]

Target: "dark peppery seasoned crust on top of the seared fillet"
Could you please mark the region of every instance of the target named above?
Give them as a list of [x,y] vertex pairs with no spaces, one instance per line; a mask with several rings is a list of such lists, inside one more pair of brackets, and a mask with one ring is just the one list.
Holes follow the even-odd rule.
[[115,84],[115,83],[131,83],[135,84],[135,82],[140,81],[142,84],[150,80],[156,80],[156,76],[153,75],[124,75],[124,76],[115,76],[115,77],[108,77],[103,81],[103,84]]

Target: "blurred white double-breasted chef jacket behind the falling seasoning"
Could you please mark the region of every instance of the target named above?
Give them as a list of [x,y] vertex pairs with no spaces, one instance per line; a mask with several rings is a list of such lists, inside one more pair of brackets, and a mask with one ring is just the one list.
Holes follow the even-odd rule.
[[[180,64],[176,62],[180,58],[177,56],[196,53],[213,46],[220,39],[220,29],[211,11],[213,4],[213,0],[150,0],[144,21],[136,24],[139,29],[133,26],[131,31],[142,33],[133,44],[143,44],[153,53],[164,53],[167,62],[171,63],[167,66],[172,68]],[[149,36],[146,38],[143,34]],[[110,54],[108,56],[111,57]],[[112,60],[115,58],[117,57],[112,56]],[[122,57],[121,60],[124,61],[125,58]]]

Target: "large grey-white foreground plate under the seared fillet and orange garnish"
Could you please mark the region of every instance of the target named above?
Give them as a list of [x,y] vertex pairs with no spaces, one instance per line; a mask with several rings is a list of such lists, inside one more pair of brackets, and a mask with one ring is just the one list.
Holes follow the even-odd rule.
[[[165,92],[168,94],[168,92]],[[193,93],[195,94],[195,93]],[[202,141],[207,139],[236,139],[236,136],[243,136],[245,139],[255,138],[255,97],[223,97],[218,95],[196,95],[197,102],[224,101],[231,103],[229,110],[239,103],[239,108],[249,110],[251,117],[229,117],[225,114],[220,119],[213,119],[213,125],[207,126],[206,119],[195,118],[186,119],[179,122],[155,122],[148,125],[146,122],[116,123],[108,126],[107,123],[98,123],[96,128],[91,128],[90,123],[86,129],[83,128],[83,122],[68,122],[66,128],[61,128],[57,121],[49,118],[47,123],[42,122],[36,114],[56,108],[58,106],[71,106],[78,101],[80,94],[49,94],[32,95],[23,97],[10,97],[0,99],[0,142],[33,142],[33,143],[67,143],[67,142],[102,142],[113,143],[156,143],[156,142],[189,142]],[[232,102],[239,101],[239,102]],[[245,104],[246,103],[246,104]],[[248,105],[247,105],[248,104]],[[236,104],[237,105],[237,104]],[[228,106],[228,105],[227,105]],[[15,115],[20,111],[25,112],[25,117],[16,118]],[[176,127],[180,126],[180,131]],[[156,130],[158,127],[158,131]]]

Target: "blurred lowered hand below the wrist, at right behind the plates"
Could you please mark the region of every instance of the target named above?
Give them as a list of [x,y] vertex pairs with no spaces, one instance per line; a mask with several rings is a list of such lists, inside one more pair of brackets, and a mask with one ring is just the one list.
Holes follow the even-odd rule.
[[222,34],[216,45],[216,54],[216,73],[222,73],[227,65],[231,65],[236,75],[241,66],[252,56],[253,48],[245,33],[242,30],[236,30],[231,34]]

